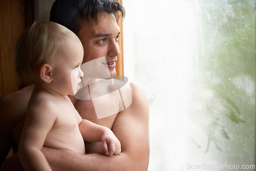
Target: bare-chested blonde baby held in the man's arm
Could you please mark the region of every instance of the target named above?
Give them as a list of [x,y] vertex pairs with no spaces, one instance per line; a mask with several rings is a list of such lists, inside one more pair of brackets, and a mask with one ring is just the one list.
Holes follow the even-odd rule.
[[35,22],[18,39],[16,71],[34,90],[28,103],[18,157],[25,170],[51,170],[42,146],[85,154],[84,141],[102,142],[105,155],[121,145],[107,127],[80,117],[68,95],[79,90],[83,47],[69,29]]

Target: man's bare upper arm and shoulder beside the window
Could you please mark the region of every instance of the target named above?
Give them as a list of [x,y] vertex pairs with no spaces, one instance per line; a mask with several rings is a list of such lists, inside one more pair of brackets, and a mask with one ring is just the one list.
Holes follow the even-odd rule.
[[142,88],[130,83],[132,104],[120,112],[113,132],[121,142],[123,156],[118,161],[119,170],[147,170],[150,155],[148,133],[149,110]]

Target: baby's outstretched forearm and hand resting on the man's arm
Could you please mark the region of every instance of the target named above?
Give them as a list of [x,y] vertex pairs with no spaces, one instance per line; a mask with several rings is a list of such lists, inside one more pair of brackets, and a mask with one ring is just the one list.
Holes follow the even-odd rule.
[[79,130],[84,141],[101,142],[106,156],[120,155],[121,144],[108,127],[97,125],[89,120],[82,119]]

